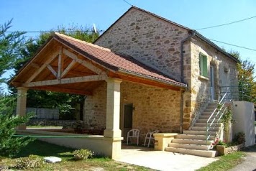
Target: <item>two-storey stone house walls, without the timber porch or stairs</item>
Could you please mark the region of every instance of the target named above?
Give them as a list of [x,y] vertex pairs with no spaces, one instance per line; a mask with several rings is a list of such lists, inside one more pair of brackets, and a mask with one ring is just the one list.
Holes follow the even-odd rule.
[[[237,81],[238,60],[193,29],[131,7],[94,44],[134,57],[145,65],[186,84],[186,90],[168,90],[137,83],[121,83],[121,128],[129,104],[132,128],[180,132],[206,108],[219,100],[221,86]],[[101,95],[99,95],[101,96]],[[101,96],[102,97],[102,96]],[[96,112],[86,99],[85,120]],[[96,105],[99,106],[99,105]],[[97,108],[99,110],[99,107]],[[104,109],[102,108],[101,111]],[[97,117],[94,121],[104,123]],[[123,134],[125,137],[125,134]]]

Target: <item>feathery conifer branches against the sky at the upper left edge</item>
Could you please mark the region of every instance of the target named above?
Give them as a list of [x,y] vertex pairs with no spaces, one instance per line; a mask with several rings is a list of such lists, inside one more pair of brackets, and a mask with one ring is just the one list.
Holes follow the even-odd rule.
[[[11,28],[12,20],[0,25],[0,77],[6,70],[12,69],[15,61],[20,57],[21,50],[27,44],[24,38],[25,32],[6,33]],[[5,79],[1,79],[3,83]]]

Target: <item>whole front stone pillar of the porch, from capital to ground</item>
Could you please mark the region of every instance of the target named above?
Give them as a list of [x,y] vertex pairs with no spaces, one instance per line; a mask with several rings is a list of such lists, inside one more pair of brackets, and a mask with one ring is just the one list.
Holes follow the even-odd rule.
[[108,78],[106,80],[106,129],[104,140],[106,151],[111,159],[119,159],[121,154],[122,131],[120,130],[120,83],[122,80]]

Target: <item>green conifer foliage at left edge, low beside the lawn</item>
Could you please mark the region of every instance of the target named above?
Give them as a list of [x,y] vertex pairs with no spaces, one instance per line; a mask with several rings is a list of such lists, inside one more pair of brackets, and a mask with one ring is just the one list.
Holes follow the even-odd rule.
[[15,128],[27,123],[32,117],[32,114],[14,116],[13,101],[12,97],[0,97],[0,156],[13,156],[32,141],[28,137],[13,137]]

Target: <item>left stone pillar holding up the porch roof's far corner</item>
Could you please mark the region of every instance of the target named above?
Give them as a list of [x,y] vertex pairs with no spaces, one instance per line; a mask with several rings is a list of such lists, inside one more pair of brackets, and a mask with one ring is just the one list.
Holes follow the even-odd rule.
[[[19,116],[26,115],[26,105],[27,105],[27,88],[19,87],[17,88],[17,108],[16,114]],[[20,125],[17,129],[26,129],[26,125]]]

